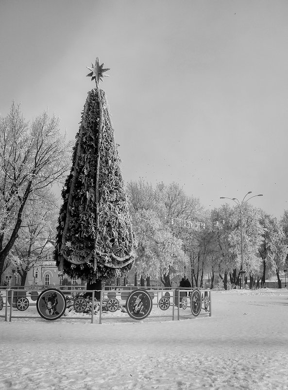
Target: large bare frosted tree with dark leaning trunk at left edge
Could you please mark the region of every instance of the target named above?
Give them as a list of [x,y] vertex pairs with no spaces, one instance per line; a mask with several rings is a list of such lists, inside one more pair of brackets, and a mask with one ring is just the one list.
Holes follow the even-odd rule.
[[28,200],[61,182],[69,164],[70,144],[55,115],[44,112],[29,124],[13,102],[0,120],[0,280]]

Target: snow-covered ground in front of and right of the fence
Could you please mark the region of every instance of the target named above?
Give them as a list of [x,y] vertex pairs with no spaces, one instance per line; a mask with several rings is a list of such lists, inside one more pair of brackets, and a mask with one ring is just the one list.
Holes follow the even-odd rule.
[[288,389],[287,290],[213,291],[211,317],[125,318],[0,318],[0,389]]

